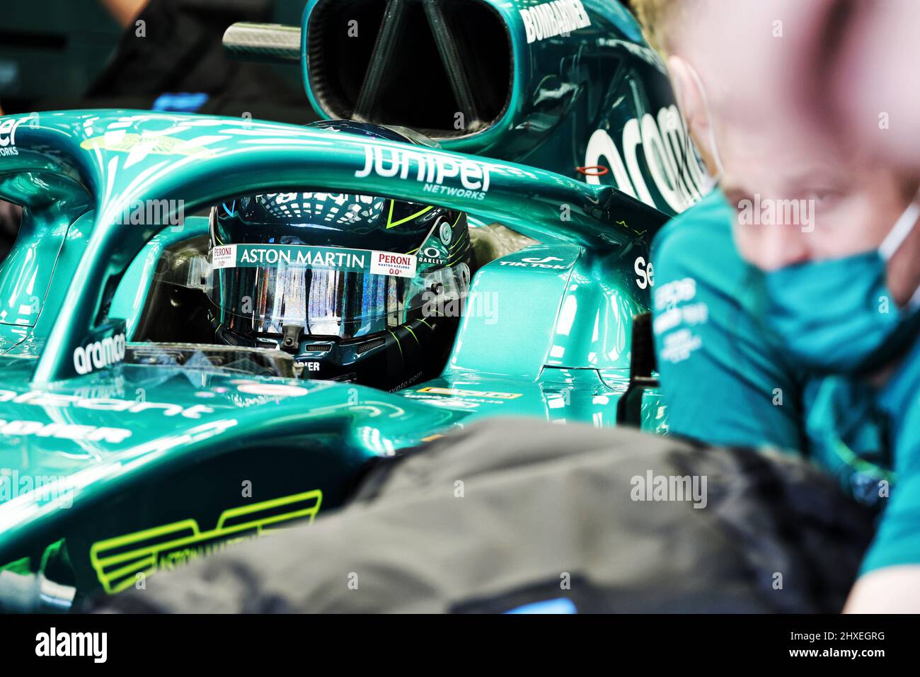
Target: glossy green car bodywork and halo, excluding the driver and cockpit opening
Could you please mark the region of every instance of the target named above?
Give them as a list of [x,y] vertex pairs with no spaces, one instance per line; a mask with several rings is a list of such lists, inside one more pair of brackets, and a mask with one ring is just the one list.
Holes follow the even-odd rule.
[[[0,268],[6,573],[116,592],[313,519],[346,500],[369,461],[471,420],[615,425],[631,319],[650,305],[650,238],[701,182],[661,64],[615,3],[451,4],[466,19],[441,6],[313,0],[302,30],[307,93],[324,117],[420,127],[440,148],[146,111],[0,118],[0,197],[24,207]],[[456,95],[467,126],[404,115],[348,74],[331,80],[328,60],[345,49],[372,66],[385,59],[374,38],[393,21],[418,37],[417,12],[435,38],[410,45],[434,44],[449,73],[416,86]],[[371,47],[335,37],[354,13]],[[469,50],[443,32],[473,20],[508,47],[488,55],[507,81],[483,75],[482,96],[457,83],[488,64],[452,68]],[[529,238],[477,270],[479,306],[467,304],[439,378],[374,391],[296,379],[281,352],[151,338],[181,321],[155,303],[157,275],[208,232],[204,216],[179,224],[173,205],[191,214],[305,187],[443,204],[465,210],[474,231],[500,223]],[[132,205],[151,203],[162,214],[132,223]],[[642,411],[643,427],[666,427],[653,391]]]

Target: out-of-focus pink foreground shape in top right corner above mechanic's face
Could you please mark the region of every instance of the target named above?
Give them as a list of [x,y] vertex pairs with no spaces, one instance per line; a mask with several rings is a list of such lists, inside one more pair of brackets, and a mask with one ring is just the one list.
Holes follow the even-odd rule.
[[730,92],[723,114],[784,118],[818,143],[856,147],[920,175],[920,3],[711,2],[723,28],[692,44]]

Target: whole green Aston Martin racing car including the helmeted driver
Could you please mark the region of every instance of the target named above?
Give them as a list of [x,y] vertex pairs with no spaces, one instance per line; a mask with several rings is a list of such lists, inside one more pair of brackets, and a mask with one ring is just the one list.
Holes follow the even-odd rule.
[[[0,198],[23,208],[0,267],[0,609],[67,610],[314,519],[484,417],[667,430],[633,318],[650,240],[703,177],[625,10],[312,0],[300,29],[225,41],[298,59],[339,122],[0,118]],[[251,236],[338,208],[360,216],[326,239]],[[362,310],[279,314],[305,279],[301,306],[361,287]]]

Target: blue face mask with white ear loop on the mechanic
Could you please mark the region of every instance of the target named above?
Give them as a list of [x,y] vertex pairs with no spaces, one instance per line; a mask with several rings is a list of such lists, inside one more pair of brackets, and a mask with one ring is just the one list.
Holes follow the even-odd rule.
[[900,356],[920,333],[920,290],[898,308],[887,263],[920,216],[914,199],[877,251],[764,274],[765,325],[800,368],[866,373]]

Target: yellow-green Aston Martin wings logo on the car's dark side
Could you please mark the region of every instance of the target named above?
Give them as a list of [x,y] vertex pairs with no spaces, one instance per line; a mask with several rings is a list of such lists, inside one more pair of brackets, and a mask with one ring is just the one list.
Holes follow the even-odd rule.
[[134,585],[138,574],[146,576],[190,562],[230,543],[268,533],[282,522],[304,518],[312,522],[322,502],[323,492],[314,489],[230,508],[221,513],[211,531],[201,531],[194,519],[182,519],[93,543],[89,560],[102,588],[111,595]]

